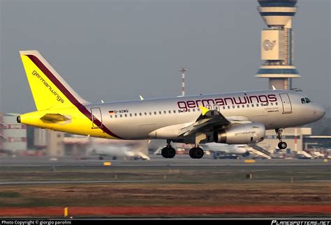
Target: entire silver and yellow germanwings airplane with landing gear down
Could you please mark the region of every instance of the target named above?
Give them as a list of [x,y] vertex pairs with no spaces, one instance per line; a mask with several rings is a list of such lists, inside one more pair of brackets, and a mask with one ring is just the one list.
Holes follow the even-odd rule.
[[288,90],[93,104],[75,93],[38,51],[21,51],[20,56],[37,111],[17,116],[18,123],[106,139],[166,139],[165,158],[175,157],[171,142],[194,143],[189,155],[200,159],[200,143],[257,143],[265,130],[275,130],[284,149],[284,128],[325,115],[307,95]]

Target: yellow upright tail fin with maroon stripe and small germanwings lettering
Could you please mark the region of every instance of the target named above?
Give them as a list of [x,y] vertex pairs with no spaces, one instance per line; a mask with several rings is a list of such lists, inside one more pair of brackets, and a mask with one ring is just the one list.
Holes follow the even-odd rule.
[[38,111],[79,107],[88,103],[73,91],[38,51],[21,51],[20,56]]

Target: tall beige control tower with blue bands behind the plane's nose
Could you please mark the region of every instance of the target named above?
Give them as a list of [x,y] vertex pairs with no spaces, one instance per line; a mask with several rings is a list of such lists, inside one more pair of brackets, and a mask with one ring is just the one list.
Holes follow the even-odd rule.
[[293,65],[292,19],[297,0],[258,0],[258,12],[268,28],[261,32],[261,60],[256,77],[269,78],[269,88],[291,89],[301,77]]

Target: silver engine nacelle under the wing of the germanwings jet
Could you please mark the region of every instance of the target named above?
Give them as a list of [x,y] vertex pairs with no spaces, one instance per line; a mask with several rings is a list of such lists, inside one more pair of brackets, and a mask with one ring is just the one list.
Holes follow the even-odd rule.
[[246,144],[256,143],[265,139],[263,123],[244,123],[214,132],[216,143]]

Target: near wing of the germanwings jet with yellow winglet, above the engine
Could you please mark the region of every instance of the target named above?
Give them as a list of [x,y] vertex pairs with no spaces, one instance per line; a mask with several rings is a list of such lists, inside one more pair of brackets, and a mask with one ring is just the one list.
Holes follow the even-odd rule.
[[179,130],[179,136],[185,137],[195,132],[209,132],[238,123],[251,123],[246,116],[230,116],[226,118],[216,109],[207,109],[205,107],[200,107],[200,109],[202,113],[196,122]]

